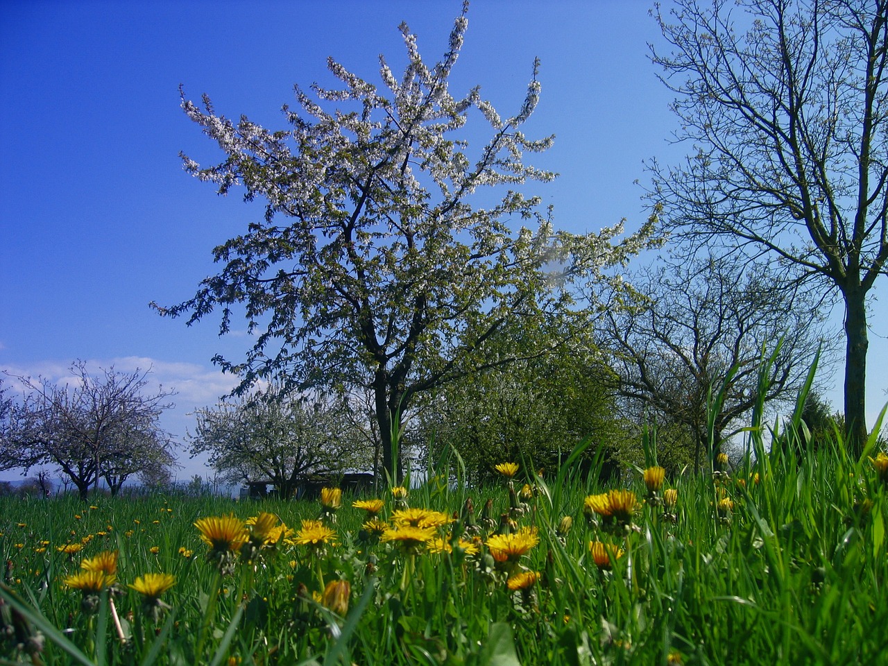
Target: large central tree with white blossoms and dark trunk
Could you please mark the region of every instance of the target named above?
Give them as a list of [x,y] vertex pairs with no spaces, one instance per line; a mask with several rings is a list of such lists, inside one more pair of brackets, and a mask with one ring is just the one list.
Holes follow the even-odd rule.
[[[403,75],[380,58],[387,95],[329,59],[343,89],[313,85],[312,96],[297,87],[301,110],[283,109],[288,131],[268,131],[245,117],[233,123],[206,96],[202,109],[182,102],[226,153],[209,168],[184,157],[186,169],[222,194],[244,186],[248,200],[266,200],[266,218],[216,248],[225,268],[193,298],[155,307],[170,316],[190,313],[191,323],[218,306],[224,333],[234,307],[244,306],[250,329],[262,329],[256,345],[245,361],[215,359],[242,376],[240,391],[264,377],[297,390],[369,389],[392,477],[392,433],[417,394],[544,353],[491,355],[488,339],[511,318],[559,314],[561,335],[582,329],[583,313],[570,311],[574,281],[604,281],[604,269],[637,251],[653,227],[612,245],[622,226],[598,235],[555,233],[536,210],[538,198],[509,190],[498,199],[472,199],[491,186],[554,174],[523,162],[552,140],[529,140],[520,129],[539,99],[536,65],[517,115],[497,114],[478,88],[462,98],[448,91],[467,24],[464,8],[448,52],[432,67],[402,24]],[[472,109],[490,129],[474,155],[458,135]],[[515,220],[536,229],[516,233]]]

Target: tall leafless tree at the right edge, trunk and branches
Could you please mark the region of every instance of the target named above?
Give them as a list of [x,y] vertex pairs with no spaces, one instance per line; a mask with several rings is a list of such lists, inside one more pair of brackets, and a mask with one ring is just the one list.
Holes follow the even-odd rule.
[[722,240],[838,291],[846,434],[859,451],[867,297],[888,259],[888,2],[676,5],[674,23],[654,10],[671,52],[653,59],[694,152],[652,165],[654,200],[686,241]]

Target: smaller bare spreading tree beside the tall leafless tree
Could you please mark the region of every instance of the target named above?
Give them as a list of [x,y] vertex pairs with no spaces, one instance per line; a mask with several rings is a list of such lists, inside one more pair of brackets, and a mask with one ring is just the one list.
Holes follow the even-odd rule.
[[618,390],[635,402],[636,417],[652,419],[664,433],[671,424],[688,429],[695,468],[703,452],[715,453],[710,396],[730,369],[736,372],[714,420],[716,448],[756,404],[763,352],[773,353],[781,343],[764,396],[776,403],[795,400],[819,349],[829,356],[812,304],[775,289],[766,266],[708,258],[653,266],[632,283],[639,305],[607,313],[602,345],[611,352]]

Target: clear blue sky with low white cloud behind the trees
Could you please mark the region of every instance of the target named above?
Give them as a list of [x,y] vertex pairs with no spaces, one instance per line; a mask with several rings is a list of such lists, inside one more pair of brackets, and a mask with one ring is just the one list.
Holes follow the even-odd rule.
[[[647,180],[643,162],[682,155],[668,141],[670,93],[647,59],[646,44],[659,37],[650,5],[472,3],[451,90],[480,84],[511,115],[541,59],[541,102],[526,130],[556,135],[534,163],[561,175],[534,191],[569,231],[620,218],[637,227],[646,217],[635,183]],[[240,322],[220,338],[217,319],[186,328],[147,304],[193,296],[215,272],[210,250],[262,210],[239,194],[218,197],[182,170],[179,151],[208,163],[219,153],[179,108],[179,84],[190,99],[208,93],[219,113],[285,129],[280,108],[293,101],[293,84],[327,81],[328,56],[374,79],[379,53],[400,62],[397,26],[406,20],[433,62],[460,6],[0,0],[0,369],[58,378],[75,359],[151,367],[179,392],[165,424],[182,437],[187,413],[234,385],[211,357],[236,358],[250,339]],[[870,413],[884,402],[884,347],[874,335]],[[840,403],[839,393],[829,397]],[[180,477],[205,472],[183,458]]]

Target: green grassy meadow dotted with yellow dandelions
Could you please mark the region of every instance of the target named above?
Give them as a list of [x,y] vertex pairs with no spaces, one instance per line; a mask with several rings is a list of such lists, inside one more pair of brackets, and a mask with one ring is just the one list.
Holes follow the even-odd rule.
[[489,488],[3,498],[0,662],[888,663],[888,456],[762,439],[613,488],[580,446]]

